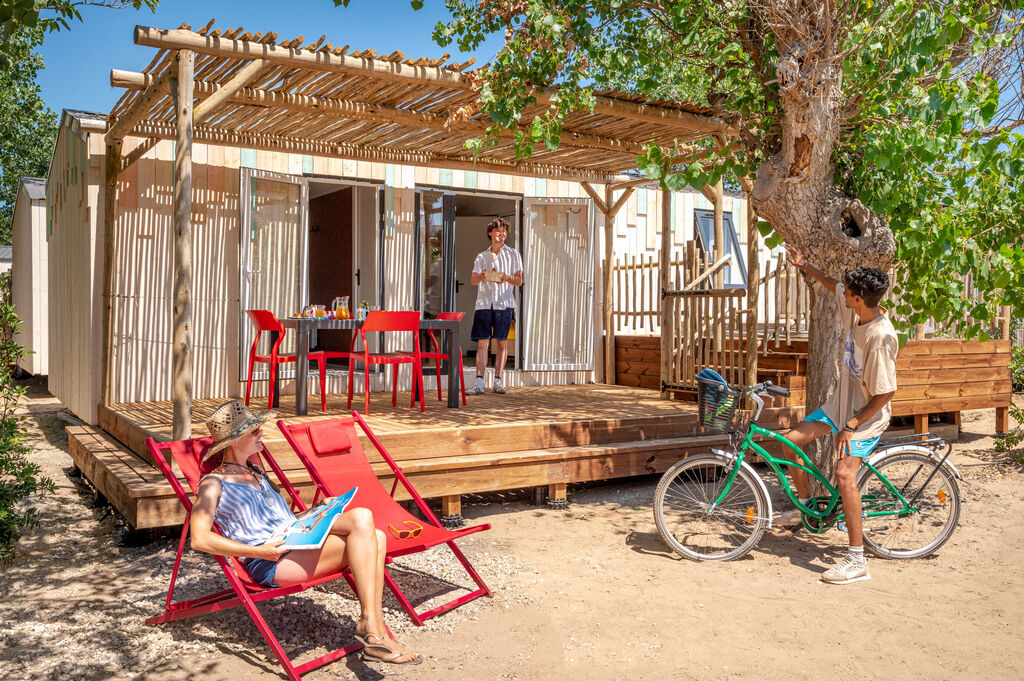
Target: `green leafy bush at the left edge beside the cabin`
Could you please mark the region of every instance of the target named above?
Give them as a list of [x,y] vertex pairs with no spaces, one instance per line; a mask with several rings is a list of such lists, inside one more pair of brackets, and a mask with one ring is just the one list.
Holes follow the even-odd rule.
[[13,376],[25,354],[13,339],[20,325],[10,300],[10,272],[0,273],[0,563],[14,557],[14,542],[36,522],[36,509],[27,508],[24,500],[54,491],[53,481],[29,461],[31,450],[22,431],[25,417],[15,414],[25,401],[25,387],[16,385]]

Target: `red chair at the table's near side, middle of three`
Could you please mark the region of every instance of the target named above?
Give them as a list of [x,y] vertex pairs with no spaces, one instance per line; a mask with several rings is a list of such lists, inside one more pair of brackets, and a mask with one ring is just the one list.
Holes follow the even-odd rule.
[[[411,332],[413,334],[412,352],[371,352],[367,345],[367,334],[373,332]],[[362,341],[362,350],[356,351],[355,341]],[[352,334],[352,351],[349,353],[348,371],[348,409],[352,408],[352,374],[356,361],[361,361],[364,374],[366,376],[366,407],[365,413],[370,413],[370,365],[391,365],[391,406],[398,403],[398,365],[412,365],[413,367],[413,398],[410,406],[416,403],[416,396],[420,394],[420,411],[426,412],[426,400],[422,398],[423,393],[423,354],[420,352],[420,313],[409,312],[385,312],[373,310],[367,314],[367,318],[359,327],[359,334]]]

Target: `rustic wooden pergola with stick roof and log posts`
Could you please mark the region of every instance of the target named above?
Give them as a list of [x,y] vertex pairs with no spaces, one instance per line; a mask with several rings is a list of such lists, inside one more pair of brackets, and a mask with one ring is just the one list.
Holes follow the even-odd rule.
[[[103,219],[103,389],[112,394],[112,289],[117,180],[161,139],[176,141],[174,157],[173,437],[190,436],[191,409],[191,152],[194,142],[412,166],[465,168],[578,181],[605,215],[605,371],[614,372],[611,332],[612,218],[636,186],[650,180],[624,177],[650,143],[680,163],[708,155],[697,142],[724,144],[738,134],[720,112],[693,103],[646,100],[616,91],[596,93],[593,112],[564,121],[559,146],[539,146],[517,158],[513,131],[474,157],[467,139],[483,134],[490,120],[479,113],[479,79],[473,60],[406,58],[335,47],[325,37],[279,41],[275,33],[241,28],[221,31],[213,22],[199,31],[135,28],[135,43],[157,48],[141,73],[114,70],[111,84],[125,94],[110,113]],[[557,91],[537,88],[537,104],[523,113],[524,128],[548,108]],[[143,138],[122,154],[125,137]],[[678,146],[677,146],[678,145]],[[593,184],[604,184],[604,196]],[[613,200],[614,191],[626,189]],[[716,248],[721,249],[722,187],[705,187],[715,204]],[[664,201],[669,224],[669,206]],[[753,211],[748,211],[749,228]],[[667,262],[671,232],[663,229]],[[757,262],[752,239],[751,262]],[[753,265],[752,265],[753,266]],[[667,275],[668,266],[663,266]],[[756,291],[756,287],[753,289]],[[755,294],[756,295],[756,294]],[[756,304],[756,302],[755,302]],[[665,325],[663,325],[664,328]],[[756,335],[753,339],[756,342]]]

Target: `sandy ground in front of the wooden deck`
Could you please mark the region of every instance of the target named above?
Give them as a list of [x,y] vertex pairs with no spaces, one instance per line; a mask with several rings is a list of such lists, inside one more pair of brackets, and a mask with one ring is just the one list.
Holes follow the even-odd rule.
[[[0,678],[274,679],[281,668],[241,609],[146,627],[163,607],[175,538],[140,543],[71,476],[59,402],[34,386],[31,444],[58,493],[0,572]],[[489,533],[462,542],[495,592],[414,627],[390,598],[414,668],[349,658],[307,675],[380,679],[1024,679],[1024,470],[992,449],[993,413],[966,413],[954,461],[964,507],[934,556],[870,562],[872,579],[820,584],[845,535],[772,530],[744,559],[683,560],[656,534],[656,478],[570,487],[567,511],[527,494],[464,504]],[[184,593],[225,584],[188,552]],[[470,581],[441,550],[402,559],[420,603]],[[350,640],[356,603],[332,583],[263,606],[300,661]]]

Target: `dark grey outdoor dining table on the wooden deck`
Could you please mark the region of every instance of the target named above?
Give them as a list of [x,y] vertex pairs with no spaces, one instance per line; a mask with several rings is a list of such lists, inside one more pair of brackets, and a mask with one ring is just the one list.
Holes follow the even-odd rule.
[[[294,329],[296,332],[296,367],[295,374],[295,414],[296,416],[306,416],[306,374],[309,369],[309,332],[316,331],[355,331],[362,322],[359,320],[329,320],[327,317],[284,317],[281,320],[282,326],[286,329]],[[459,344],[459,323],[449,320],[420,320],[420,331],[446,331],[443,336],[443,352],[446,352],[450,359],[447,365],[449,375],[449,408],[459,408],[459,390],[461,378],[459,374],[459,363],[452,361],[453,348],[461,348]],[[273,343],[276,339],[270,338]],[[352,359],[349,359],[349,371],[351,371]],[[439,377],[438,377],[439,378]],[[273,406],[279,407],[279,396],[281,395],[278,370],[273,372]],[[424,396],[419,395],[420,399]]]

